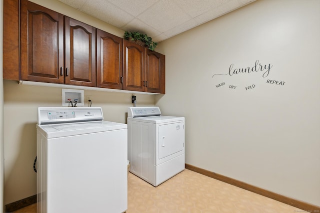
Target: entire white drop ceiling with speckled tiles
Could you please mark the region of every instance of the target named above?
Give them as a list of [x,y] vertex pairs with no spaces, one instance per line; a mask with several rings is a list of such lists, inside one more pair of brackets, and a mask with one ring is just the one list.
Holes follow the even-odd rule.
[[255,0],[58,0],[159,42]]

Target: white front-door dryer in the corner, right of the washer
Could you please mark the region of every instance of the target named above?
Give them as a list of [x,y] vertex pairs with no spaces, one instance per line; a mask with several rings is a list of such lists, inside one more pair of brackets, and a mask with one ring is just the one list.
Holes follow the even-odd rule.
[[184,170],[184,117],[129,107],[127,125],[131,173],[156,187]]

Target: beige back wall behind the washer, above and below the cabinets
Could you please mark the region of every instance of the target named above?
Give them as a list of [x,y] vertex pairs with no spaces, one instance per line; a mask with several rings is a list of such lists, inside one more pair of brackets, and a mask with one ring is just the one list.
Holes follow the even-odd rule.
[[[58,1],[32,1],[119,37],[123,36],[123,30]],[[2,86],[0,88],[2,90]],[[61,106],[62,97],[61,88],[21,85],[10,80],[3,81],[3,92],[4,204],[9,204],[36,194],[36,173],[33,172],[33,161],[36,156],[36,110],[37,107],[43,106]],[[91,97],[92,106],[102,107],[104,120],[120,123],[126,123],[127,107],[133,106],[131,103],[132,94],[136,96],[137,106],[154,105],[154,95],[84,90],[84,97],[88,95]],[[88,106],[86,100],[85,106]]]

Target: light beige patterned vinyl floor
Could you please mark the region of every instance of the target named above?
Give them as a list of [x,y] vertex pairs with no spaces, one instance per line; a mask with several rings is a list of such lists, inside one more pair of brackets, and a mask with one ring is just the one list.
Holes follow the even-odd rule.
[[[303,212],[305,211],[187,169],[157,187],[128,174],[126,213]],[[36,213],[36,204],[15,213]],[[101,210],[101,213],[108,212]]]

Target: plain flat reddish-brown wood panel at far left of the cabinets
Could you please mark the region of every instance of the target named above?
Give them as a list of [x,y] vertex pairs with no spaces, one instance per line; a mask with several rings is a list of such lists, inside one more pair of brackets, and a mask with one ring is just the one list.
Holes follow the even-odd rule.
[[3,0],[3,79],[19,80],[18,0]]

